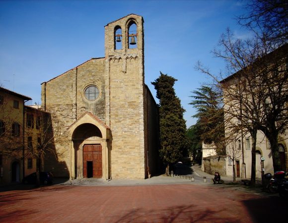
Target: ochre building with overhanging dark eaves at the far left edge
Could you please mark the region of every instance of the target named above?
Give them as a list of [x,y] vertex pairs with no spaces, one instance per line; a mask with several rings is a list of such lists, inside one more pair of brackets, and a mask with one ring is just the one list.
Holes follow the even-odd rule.
[[0,87],[0,185],[21,182],[30,170],[35,171],[27,166],[25,157],[24,103],[29,100],[32,99]]

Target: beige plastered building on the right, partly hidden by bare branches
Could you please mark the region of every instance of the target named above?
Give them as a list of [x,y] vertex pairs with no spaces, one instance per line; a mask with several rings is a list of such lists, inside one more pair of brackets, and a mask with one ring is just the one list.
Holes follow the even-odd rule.
[[[279,48],[275,52],[270,53],[268,56],[266,56],[262,61],[262,63],[269,64],[270,58],[283,58],[282,56],[286,57],[287,56],[287,46],[284,46],[282,48]],[[284,52],[284,53],[283,53]],[[282,54],[283,53],[283,54]],[[277,56],[277,57],[276,57]],[[274,61],[272,59],[272,61]],[[285,60],[286,61],[286,60]],[[280,60],[280,63],[277,64],[277,69],[280,70],[281,72],[285,73],[286,71],[283,71],[282,65],[280,66],[279,64],[282,64],[282,60]],[[287,67],[286,63],[284,63],[285,67]],[[272,65],[271,65],[272,67]],[[248,67],[248,69],[253,68],[253,65],[251,67]],[[252,69],[253,70],[253,69]],[[249,70],[248,70],[249,71]],[[252,95],[251,92],[248,91],[248,93],[245,93],[243,91],[243,88],[248,88],[249,85],[245,85],[245,81],[249,82],[252,79],[258,80],[259,78],[256,78],[255,76],[253,78],[249,77],[249,75],[246,74],[245,72],[248,73],[247,71],[238,71],[237,73],[234,73],[233,75],[225,78],[224,80],[221,81],[222,86],[224,87],[223,90],[223,98],[224,98],[224,119],[225,119],[225,135],[233,135],[233,140],[229,143],[229,145],[226,146],[226,174],[227,176],[232,176],[233,175],[233,165],[235,167],[235,176],[236,177],[241,177],[241,178],[250,178],[251,177],[251,166],[252,166],[252,154],[251,154],[251,149],[252,149],[252,138],[250,133],[247,133],[248,131],[245,132],[244,129],[241,129],[241,127],[237,128],[238,126],[241,126],[241,115],[244,114],[243,116],[245,117],[245,122],[249,123],[249,109],[242,110],[242,108],[245,108],[245,100],[252,101]],[[271,72],[271,71],[270,71]],[[280,73],[280,72],[279,72]],[[279,74],[278,75],[281,75]],[[262,75],[262,74],[261,74]],[[287,75],[286,73],[284,75]],[[258,83],[258,82],[256,82]],[[253,86],[253,85],[252,85]],[[261,86],[261,94],[265,95],[266,85],[259,84]],[[281,88],[279,86],[275,87],[275,89],[282,89],[282,93],[285,94],[285,87],[286,85],[282,85]],[[241,90],[239,90],[241,89]],[[253,91],[257,91],[255,88],[253,88]],[[268,90],[267,90],[268,91]],[[242,93],[240,93],[242,92]],[[257,95],[257,94],[256,94]],[[267,94],[266,94],[267,95]],[[241,98],[242,100],[238,100],[235,98]],[[255,96],[256,97],[256,96]],[[260,100],[260,99],[259,99]],[[257,101],[257,100],[255,100]],[[239,103],[240,102],[240,103]],[[247,101],[246,101],[247,102]],[[269,100],[266,98],[265,104],[268,107],[269,106]],[[262,104],[263,105],[263,104]],[[261,116],[261,112],[264,113],[264,109],[266,109],[263,106],[259,106],[258,104],[258,109],[257,111],[255,110],[254,112],[259,112]],[[287,107],[286,105],[284,105]],[[246,107],[247,108],[247,107]],[[253,108],[253,106],[252,106]],[[247,112],[248,111],[248,112]],[[251,112],[251,111],[250,111]],[[237,114],[238,118],[236,118],[237,115],[232,115],[232,114]],[[282,115],[287,115],[287,113],[283,112]],[[232,117],[232,118],[231,118]],[[244,125],[245,125],[244,122]],[[238,129],[237,132],[234,131],[231,134],[231,128],[232,126],[234,129]],[[288,130],[286,130],[283,134],[279,134],[278,136],[278,151],[275,152],[275,156],[277,157],[277,162],[278,166],[281,168],[281,170],[287,171],[288,170]],[[262,131],[257,131],[257,140],[256,140],[256,178],[261,178],[262,173],[272,173],[274,174],[274,167],[273,167],[273,159],[272,159],[272,151],[270,147],[270,143],[268,138],[265,136],[265,134]]]

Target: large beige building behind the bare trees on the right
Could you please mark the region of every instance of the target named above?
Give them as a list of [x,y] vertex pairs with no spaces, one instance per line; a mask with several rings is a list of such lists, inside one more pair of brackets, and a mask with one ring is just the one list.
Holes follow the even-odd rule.
[[[276,57],[278,56],[278,57]],[[277,64],[272,63],[271,61],[275,58],[280,58]],[[286,58],[283,60],[283,58]],[[277,60],[278,61],[278,60]],[[285,65],[283,65],[283,61]],[[234,73],[233,75],[225,78],[221,81],[222,86],[225,86],[223,89],[223,97],[224,97],[224,119],[225,119],[225,135],[231,134],[231,128],[229,126],[233,126],[233,129],[237,129],[237,131],[234,131],[232,133],[233,140],[229,143],[229,145],[226,146],[226,155],[228,157],[228,162],[226,162],[226,171],[227,175],[233,174],[233,164],[235,167],[235,175],[236,177],[241,178],[250,178],[251,177],[251,165],[252,165],[252,155],[251,155],[251,149],[252,149],[252,138],[247,131],[247,129],[244,129],[243,126],[247,124],[249,125],[249,122],[252,123],[251,119],[252,116],[255,115],[255,117],[264,117],[264,111],[265,109],[269,109],[269,100],[266,98],[260,98],[262,95],[267,94],[269,95],[270,91],[267,90],[267,85],[260,84],[259,80],[261,80],[261,76],[263,76],[263,73],[261,73],[264,69],[259,69],[262,66],[259,65],[261,63],[264,63],[264,66],[267,66],[269,64],[269,69],[267,68],[267,77],[270,77],[271,72],[274,72],[274,75],[283,75],[281,87],[278,86],[278,82],[273,82],[274,85],[271,84],[271,92],[275,91],[278,92],[280,95],[286,95],[286,91],[288,89],[288,82],[287,82],[287,45],[279,48],[278,50],[271,52],[269,55],[257,58],[257,60],[252,63],[250,66],[245,67],[243,70],[238,71],[237,73]],[[257,67],[256,67],[257,64]],[[249,76],[249,72],[253,72],[254,70],[259,69],[261,70],[258,72],[259,77],[250,76],[251,79],[247,78]],[[271,71],[272,70],[272,71]],[[264,72],[264,71],[263,71]],[[245,75],[245,76],[244,76]],[[276,76],[277,77],[277,76]],[[257,89],[252,89],[252,91],[245,91],[245,88],[251,88],[251,84],[249,82],[253,82],[253,86],[258,86]],[[250,85],[249,85],[250,84]],[[280,85],[280,83],[279,83]],[[270,87],[270,86],[269,86]],[[259,90],[260,89],[260,90]],[[242,93],[240,92],[242,91]],[[251,92],[257,92],[259,91],[258,95],[255,94],[254,96],[251,95]],[[232,92],[232,93],[231,93]],[[246,92],[248,92],[246,94]],[[275,94],[276,95],[276,94]],[[257,96],[259,98],[257,98]],[[238,97],[238,98],[237,98]],[[266,97],[266,96],[265,96]],[[240,99],[242,98],[242,99]],[[268,97],[269,98],[269,97]],[[275,96],[275,100],[278,100],[277,95]],[[249,111],[248,106],[246,106],[249,103],[246,102],[254,102],[255,110]],[[258,100],[258,101],[257,101]],[[260,101],[262,100],[262,101]],[[265,101],[265,103],[263,103]],[[256,104],[258,103],[258,104]],[[262,104],[261,104],[262,103]],[[270,102],[271,103],[271,102]],[[246,106],[246,107],[245,107]],[[287,107],[287,101],[284,103],[284,105]],[[248,108],[248,109],[244,109]],[[251,108],[251,107],[250,107]],[[258,109],[256,109],[258,108]],[[247,111],[250,112],[247,113]],[[253,113],[254,112],[254,113]],[[237,117],[233,114],[237,113]],[[253,114],[252,114],[253,113]],[[283,112],[280,115],[283,115],[284,117],[287,117],[287,112]],[[241,118],[245,116],[245,123],[243,123],[243,119]],[[231,118],[232,117],[232,118]],[[267,118],[267,117],[266,117]],[[269,116],[268,116],[269,118]],[[256,120],[256,118],[255,118]],[[258,118],[257,121],[259,122],[262,120],[261,118]],[[262,120],[263,121],[263,120]],[[256,122],[256,121],[255,121]],[[258,123],[259,123],[258,122]],[[277,122],[277,119],[276,121]],[[237,125],[239,126],[237,128]],[[241,127],[242,126],[242,127]],[[278,166],[282,168],[282,170],[287,171],[288,170],[288,131],[286,130],[282,134],[279,134],[278,137],[278,144],[279,148],[278,151],[275,152],[275,156],[277,156],[277,162]],[[257,140],[256,140],[256,178],[261,178],[264,173],[274,173],[274,167],[273,167],[273,159],[272,159],[272,151],[270,147],[270,142],[268,138],[265,136],[263,131],[258,130],[257,131]]]

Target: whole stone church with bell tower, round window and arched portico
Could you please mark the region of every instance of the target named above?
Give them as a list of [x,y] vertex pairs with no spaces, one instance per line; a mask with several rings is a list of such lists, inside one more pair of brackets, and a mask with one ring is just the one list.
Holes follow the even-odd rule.
[[158,107],[144,84],[143,24],[136,14],[107,24],[105,57],[41,84],[42,108],[68,131],[66,144],[55,143],[64,155],[47,155],[45,170],[71,179],[144,179],[157,171]]

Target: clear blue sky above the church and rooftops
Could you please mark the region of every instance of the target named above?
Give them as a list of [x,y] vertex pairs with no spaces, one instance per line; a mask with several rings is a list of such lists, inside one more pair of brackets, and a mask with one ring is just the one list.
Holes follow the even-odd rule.
[[159,71],[173,76],[176,95],[195,124],[191,91],[210,82],[196,71],[198,60],[212,71],[224,64],[210,53],[227,27],[237,37],[235,16],[242,0],[0,0],[0,86],[41,104],[41,83],[92,57],[104,56],[104,26],[131,13],[144,17],[145,83]]

